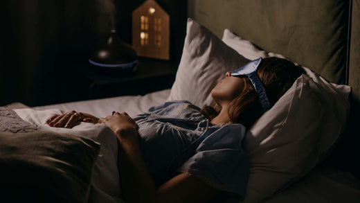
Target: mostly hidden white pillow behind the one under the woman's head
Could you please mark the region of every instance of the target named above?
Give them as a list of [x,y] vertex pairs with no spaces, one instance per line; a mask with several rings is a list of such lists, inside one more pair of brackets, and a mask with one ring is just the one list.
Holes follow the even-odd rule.
[[[222,40],[231,48],[234,48],[240,54],[246,54],[249,57],[258,57],[260,53],[265,57],[277,57],[287,59],[284,55],[278,53],[267,53],[265,51],[260,51],[255,47],[251,42],[242,39],[231,33],[230,30],[225,29]],[[246,44],[246,46],[244,46]],[[296,64],[296,62],[294,62]],[[325,121],[323,125],[324,136],[319,142],[322,151],[325,153],[327,149],[338,139],[339,134],[345,128],[346,121],[348,118],[350,104],[348,97],[351,91],[350,86],[348,85],[336,85],[331,82],[327,82],[324,78],[314,73],[307,67],[303,67],[307,76],[311,78],[320,91],[322,96],[325,98],[326,102],[323,103],[325,108]]]

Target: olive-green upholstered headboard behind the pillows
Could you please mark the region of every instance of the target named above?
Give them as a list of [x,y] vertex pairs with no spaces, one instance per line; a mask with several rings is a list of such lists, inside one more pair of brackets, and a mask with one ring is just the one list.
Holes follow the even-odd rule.
[[[323,78],[352,87],[343,151],[359,143],[360,0],[189,0],[189,17],[222,37],[228,28],[259,48],[285,55]],[[342,149],[342,150],[344,150]],[[350,150],[350,151],[349,151]],[[358,151],[359,152],[359,151]],[[355,169],[353,166],[352,170]]]

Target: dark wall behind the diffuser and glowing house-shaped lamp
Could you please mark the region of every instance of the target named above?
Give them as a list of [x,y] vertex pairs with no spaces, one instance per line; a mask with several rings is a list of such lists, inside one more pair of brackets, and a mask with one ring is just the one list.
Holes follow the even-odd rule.
[[[143,0],[6,0],[1,21],[0,105],[29,106],[82,100],[86,81],[76,67],[111,27],[131,44],[131,13]],[[186,1],[158,3],[170,14],[170,55],[179,62],[186,33]],[[61,93],[61,94],[60,94]],[[60,96],[61,95],[61,96]]]

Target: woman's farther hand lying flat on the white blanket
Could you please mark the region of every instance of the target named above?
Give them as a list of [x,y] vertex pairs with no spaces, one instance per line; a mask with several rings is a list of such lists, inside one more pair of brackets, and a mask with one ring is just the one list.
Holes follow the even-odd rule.
[[74,110],[71,112],[66,112],[62,115],[54,115],[51,118],[48,118],[46,124],[51,127],[73,127],[78,121],[87,122],[87,123],[98,123],[99,118],[96,116],[92,116],[90,114],[85,114],[81,112],[75,112]]

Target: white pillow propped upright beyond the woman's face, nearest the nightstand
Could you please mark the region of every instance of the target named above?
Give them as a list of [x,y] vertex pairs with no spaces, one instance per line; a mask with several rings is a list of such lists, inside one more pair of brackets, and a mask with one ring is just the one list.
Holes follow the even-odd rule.
[[226,71],[249,61],[189,18],[183,54],[167,101],[188,100],[198,107],[215,105],[210,92],[217,82],[225,77]]

